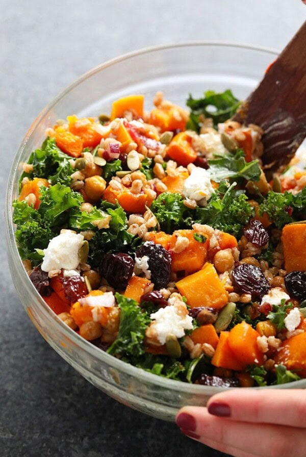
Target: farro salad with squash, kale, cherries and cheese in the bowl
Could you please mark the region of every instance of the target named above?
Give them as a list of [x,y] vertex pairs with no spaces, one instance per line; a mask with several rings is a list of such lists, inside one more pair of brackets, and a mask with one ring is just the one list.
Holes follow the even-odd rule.
[[60,119],[23,164],[16,240],[48,306],[101,350],[209,386],[306,377],[302,148],[268,182],[230,90]]

